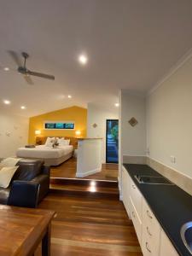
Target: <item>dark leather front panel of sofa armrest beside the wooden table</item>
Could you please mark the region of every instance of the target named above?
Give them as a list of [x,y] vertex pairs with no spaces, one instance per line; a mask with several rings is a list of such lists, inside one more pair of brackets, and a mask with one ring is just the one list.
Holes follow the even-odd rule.
[[38,206],[39,183],[15,180],[10,189],[8,205],[35,208]]

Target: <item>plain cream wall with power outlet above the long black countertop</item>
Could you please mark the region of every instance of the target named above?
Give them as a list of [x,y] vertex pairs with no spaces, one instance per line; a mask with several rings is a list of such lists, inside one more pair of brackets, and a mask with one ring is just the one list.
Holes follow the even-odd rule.
[[148,96],[147,120],[150,157],[192,177],[191,58]]

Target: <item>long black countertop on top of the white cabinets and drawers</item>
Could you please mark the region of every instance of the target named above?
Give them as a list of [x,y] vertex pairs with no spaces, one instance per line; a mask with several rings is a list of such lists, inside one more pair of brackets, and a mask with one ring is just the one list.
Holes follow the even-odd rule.
[[183,245],[180,229],[183,224],[192,221],[192,196],[177,185],[138,183],[134,175],[161,176],[149,166],[124,164],[124,167],[148,202],[148,206],[154,212],[166,236],[172,241],[177,253],[181,256],[191,256]]

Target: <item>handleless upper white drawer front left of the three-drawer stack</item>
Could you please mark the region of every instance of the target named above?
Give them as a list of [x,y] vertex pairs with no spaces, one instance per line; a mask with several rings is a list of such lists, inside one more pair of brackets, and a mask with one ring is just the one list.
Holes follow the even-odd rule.
[[140,219],[142,219],[142,198],[143,195],[137,189],[136,184],[131,179],[131,201],[136,208],[137,214]]

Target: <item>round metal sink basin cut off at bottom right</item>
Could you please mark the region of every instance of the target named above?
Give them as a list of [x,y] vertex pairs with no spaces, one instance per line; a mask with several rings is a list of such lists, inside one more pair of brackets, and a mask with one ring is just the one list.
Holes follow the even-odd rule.
[[181,228],[181,237],[185,247],[189,250],[192,255],[192,221],[183,224]]

